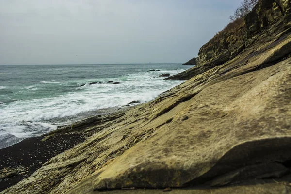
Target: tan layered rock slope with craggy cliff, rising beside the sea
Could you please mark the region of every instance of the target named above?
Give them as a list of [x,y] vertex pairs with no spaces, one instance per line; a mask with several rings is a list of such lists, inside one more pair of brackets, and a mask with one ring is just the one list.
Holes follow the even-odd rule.
[[291,193],[290,1],[274,2],[260,0],[224,49],[204,45],[183,84],[47,134],[91,136],[2,194]]

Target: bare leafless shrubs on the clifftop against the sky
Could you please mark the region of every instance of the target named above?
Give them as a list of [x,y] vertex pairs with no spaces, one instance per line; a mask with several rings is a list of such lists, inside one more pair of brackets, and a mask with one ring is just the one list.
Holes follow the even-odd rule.
[[241,5],[234,11],[232,16],[229,16],[230,22],[242,18],[248,14],[259,0],[243,0]]

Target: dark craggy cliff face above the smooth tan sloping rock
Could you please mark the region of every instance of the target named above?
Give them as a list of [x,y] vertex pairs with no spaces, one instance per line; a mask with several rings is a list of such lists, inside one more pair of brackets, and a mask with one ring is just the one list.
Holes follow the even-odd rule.
[[199,49],[197,66],[166,79],[189,80],[217,65],[222,65],[260,39],[274,39],[275,33],[291,32],[291,0],[260,0],[243,19],[218,32]]

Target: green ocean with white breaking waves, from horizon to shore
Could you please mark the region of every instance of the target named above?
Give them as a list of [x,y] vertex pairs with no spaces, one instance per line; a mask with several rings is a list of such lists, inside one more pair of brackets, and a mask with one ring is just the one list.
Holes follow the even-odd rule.
[[[0,65],[0,149],[60,125],[111,113],[131,101],[150,101],[183,82],[159,75],[174,75],[192,66]],[[151,69],[160,71],[148,72]]]

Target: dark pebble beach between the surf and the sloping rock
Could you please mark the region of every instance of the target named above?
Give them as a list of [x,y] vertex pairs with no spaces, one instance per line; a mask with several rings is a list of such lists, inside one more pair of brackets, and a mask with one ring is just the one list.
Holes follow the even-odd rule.
[[80,133],[58,134],[41,141],[32,137],[0,149],[0,191],[5,190],[40,168],[50,158],[85,140]]

